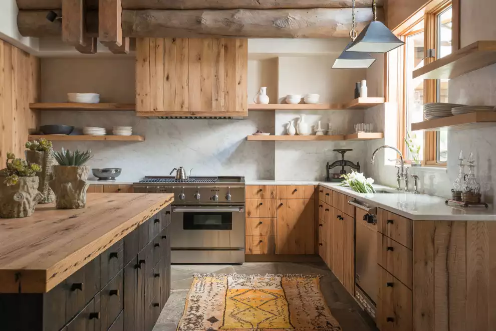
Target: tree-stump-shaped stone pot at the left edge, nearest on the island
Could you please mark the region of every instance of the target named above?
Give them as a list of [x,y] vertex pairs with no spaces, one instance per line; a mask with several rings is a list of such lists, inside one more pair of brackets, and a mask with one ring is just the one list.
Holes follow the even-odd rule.
[[4,184],[0,177],[0,218],[20,218],[33,215],[35,207],[43,199],[38,191],[38,177],[19,177],[16,185]]

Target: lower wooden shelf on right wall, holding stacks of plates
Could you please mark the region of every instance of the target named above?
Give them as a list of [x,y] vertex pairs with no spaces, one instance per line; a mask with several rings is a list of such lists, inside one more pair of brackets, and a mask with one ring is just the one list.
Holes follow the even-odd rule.
[[412,131],[437,131],[443,127],[468,129],[484,125],[496,125],[496,112],[475,112],[412,123]]

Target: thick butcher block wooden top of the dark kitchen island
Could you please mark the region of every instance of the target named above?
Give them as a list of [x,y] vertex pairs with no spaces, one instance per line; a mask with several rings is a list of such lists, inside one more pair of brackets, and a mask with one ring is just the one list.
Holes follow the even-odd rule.
[[91,193],[86,208],[38,205],[0,219],[0,293],[45,293],[170,205],[173,194]]

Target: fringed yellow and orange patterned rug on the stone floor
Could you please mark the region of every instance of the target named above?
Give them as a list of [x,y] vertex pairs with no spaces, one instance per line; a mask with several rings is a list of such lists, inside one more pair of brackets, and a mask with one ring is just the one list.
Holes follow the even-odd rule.
[[178,331],[340,331],[319,277],[195,275]]

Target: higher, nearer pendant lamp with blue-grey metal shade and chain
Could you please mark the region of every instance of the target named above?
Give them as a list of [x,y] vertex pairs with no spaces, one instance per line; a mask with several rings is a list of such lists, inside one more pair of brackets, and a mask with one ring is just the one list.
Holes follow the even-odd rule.
[[398,39],[382,22],[377,21],[377,5],[372,0],[374,20],[360,33],[348,51],[365,53],[387,53],[405,43]]

